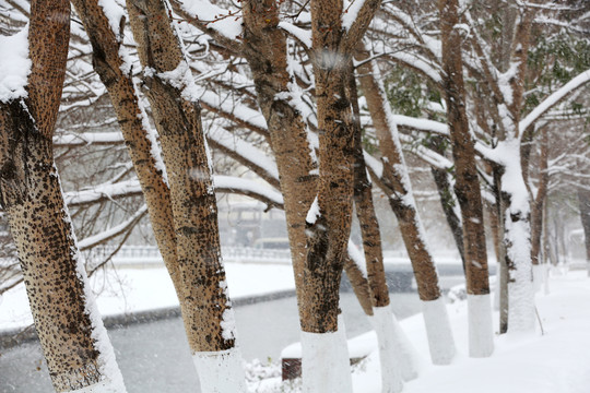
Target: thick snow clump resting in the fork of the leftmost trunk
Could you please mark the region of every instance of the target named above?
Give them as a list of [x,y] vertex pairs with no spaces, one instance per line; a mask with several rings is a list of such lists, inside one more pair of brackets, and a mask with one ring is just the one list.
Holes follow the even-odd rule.
[[28,25],[14,35],[0,35],[0,102],[26,97],[33,66],[28,58]]

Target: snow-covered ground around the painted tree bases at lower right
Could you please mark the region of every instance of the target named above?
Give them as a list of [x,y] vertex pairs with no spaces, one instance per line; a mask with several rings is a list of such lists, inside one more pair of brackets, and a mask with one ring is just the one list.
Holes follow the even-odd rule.
[[[449,305],[458,345],[450,366],[428,360],[422,314],[401,322],[422,358],[418,379],[408,382],[404,393],[588,393],[590,392],[590,279],[586,272],[552,276],[548,295],[536,295],[543,334],[496,337],[491,358],[472,359],[468,353],[467,302]],[[494,321],[497,321],[497,313]],[[497,329],[496,329],[497,331]],[[370,355],[353,373],[355,393],[380,393],[379,356],[375,333],[349,344],[369,348]],[[298,392],[280,385],[278,379],[250,384],[256,392]]]

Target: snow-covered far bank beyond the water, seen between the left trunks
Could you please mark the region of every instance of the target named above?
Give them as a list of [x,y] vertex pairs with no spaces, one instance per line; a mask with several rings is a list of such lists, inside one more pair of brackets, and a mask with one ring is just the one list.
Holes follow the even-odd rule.
[[[232,299],[294,289],[291,265],[225,263]],[[178,306],[165,267],[101,270],[91,278],[103,317]],[[24,285],[0,296],[0,332],[33,323]]]

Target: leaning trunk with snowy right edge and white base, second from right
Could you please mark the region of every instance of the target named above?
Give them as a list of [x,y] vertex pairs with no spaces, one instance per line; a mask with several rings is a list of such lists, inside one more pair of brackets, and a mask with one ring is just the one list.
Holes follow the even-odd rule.
[[[368,58],[368,55],[363,53],[363,58]],[[402,239],[412,262],[424,310],[430,356],[433,362],[448,365],[455,357],[455,341],[445,300],[438,286],[436,266],[426,245],[426,234],[412,194],[397,128],[391,121],[391,109],[384,87],[378,82],[380,73],[377,66],[371,62],[363,64],[359,73],[361,85],[377,131],[379,148],[384,155],[384,170],[379,182],[389,195],[389,203],[398,217]]]

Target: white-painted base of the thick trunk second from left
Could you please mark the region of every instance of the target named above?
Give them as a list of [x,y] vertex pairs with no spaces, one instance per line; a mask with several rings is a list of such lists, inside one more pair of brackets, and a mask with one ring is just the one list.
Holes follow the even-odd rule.
[[196,353],[192,361],[199,374],[202,393],[248,392],[239,348]]

